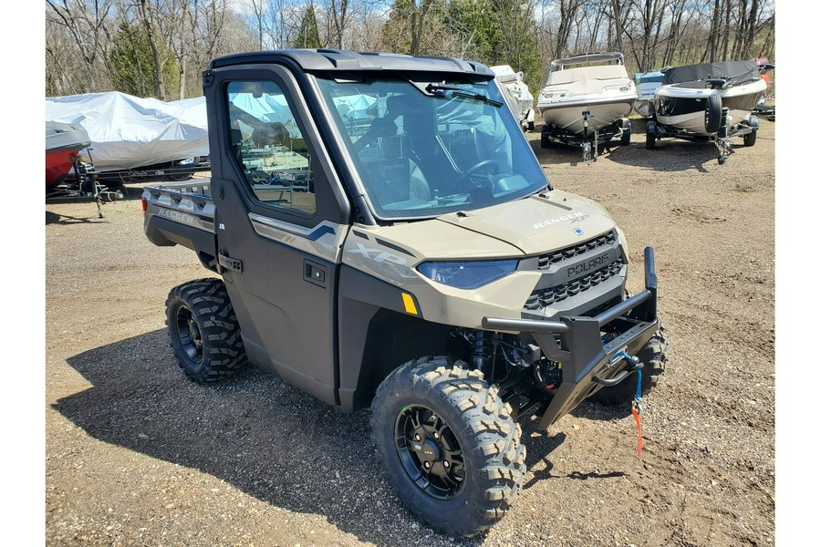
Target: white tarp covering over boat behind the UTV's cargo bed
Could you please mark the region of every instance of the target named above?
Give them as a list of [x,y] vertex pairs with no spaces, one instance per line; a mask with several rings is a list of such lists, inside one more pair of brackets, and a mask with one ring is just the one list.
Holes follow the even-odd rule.
[[46,98],[46,121],[82,124],[95,170],[208,155],[205,98],[164,102],[110,91]]

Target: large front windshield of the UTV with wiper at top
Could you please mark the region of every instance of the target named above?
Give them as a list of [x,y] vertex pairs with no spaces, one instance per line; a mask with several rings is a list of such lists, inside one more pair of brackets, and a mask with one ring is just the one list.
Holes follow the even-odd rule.
[[493,82],[317,81],[380,218],[469,211],[547,184]]

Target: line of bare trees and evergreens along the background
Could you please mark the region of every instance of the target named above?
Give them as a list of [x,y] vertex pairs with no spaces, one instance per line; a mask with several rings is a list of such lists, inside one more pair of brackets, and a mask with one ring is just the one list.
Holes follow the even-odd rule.
[[773,0],[47,0],[46,95],[197,97],[213,57],[280,47],[505,64],[535,92],[556,57],[774,61],[774,33]]

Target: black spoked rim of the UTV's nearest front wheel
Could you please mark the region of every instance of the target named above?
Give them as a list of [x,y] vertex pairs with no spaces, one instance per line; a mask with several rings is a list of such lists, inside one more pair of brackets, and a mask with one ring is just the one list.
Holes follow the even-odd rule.
[[400,410],[394,445],[402,467],[419,490],[447,500],[464,487],[466,470],[462,447],[452,428],[422,405]]

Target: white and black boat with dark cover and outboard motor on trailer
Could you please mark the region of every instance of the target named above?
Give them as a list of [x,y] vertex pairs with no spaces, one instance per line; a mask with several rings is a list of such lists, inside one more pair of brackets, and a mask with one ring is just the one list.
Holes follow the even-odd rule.
[[730,138],[743,137],[744,146],[755,144],[758,119],[753,111],[766,88],[754,59],[666,69],[647,125],[647,148],[656,148],[662,137],[712,140],[723,163],[732,150]]

